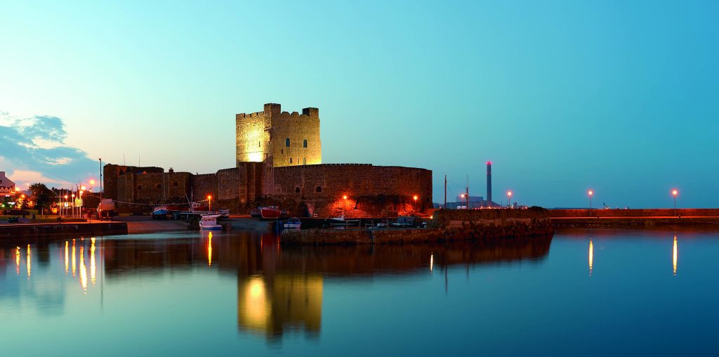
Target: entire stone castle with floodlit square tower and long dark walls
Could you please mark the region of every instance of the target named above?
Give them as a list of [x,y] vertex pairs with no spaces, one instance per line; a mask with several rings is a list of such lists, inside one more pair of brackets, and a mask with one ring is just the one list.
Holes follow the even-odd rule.
[[[213,207],[247,213],[278,204],[290,214],[385,217],[432,207],[432,172],[423,168],[322,163],[319,109],[262,112],[235,117],[236,166],[195,175],[159,167],[104,166],[105,196],[121,211],[147,211],[152,204],[184,204],[212,196]],[[343,199],[347,196],[347,199]],[[414,200],[417,196],[417,200]]]

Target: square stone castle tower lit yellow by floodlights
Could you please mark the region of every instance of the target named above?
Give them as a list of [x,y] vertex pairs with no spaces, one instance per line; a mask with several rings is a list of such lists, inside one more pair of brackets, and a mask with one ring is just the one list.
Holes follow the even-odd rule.
[[270,167],[322,163],[319,109],[282,112],[268,103],[262,112],[237,114],[236,163],[264,162]]

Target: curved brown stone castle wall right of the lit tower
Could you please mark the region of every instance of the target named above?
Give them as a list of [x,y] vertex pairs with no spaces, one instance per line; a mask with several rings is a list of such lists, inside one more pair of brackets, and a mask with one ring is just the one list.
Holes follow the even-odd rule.
[[423,168],[323,164],[273,171],[274,183],[263,194],[304,202],[320,217],[343,210],[347,217],[382,217],[432,207],[432,172]]

